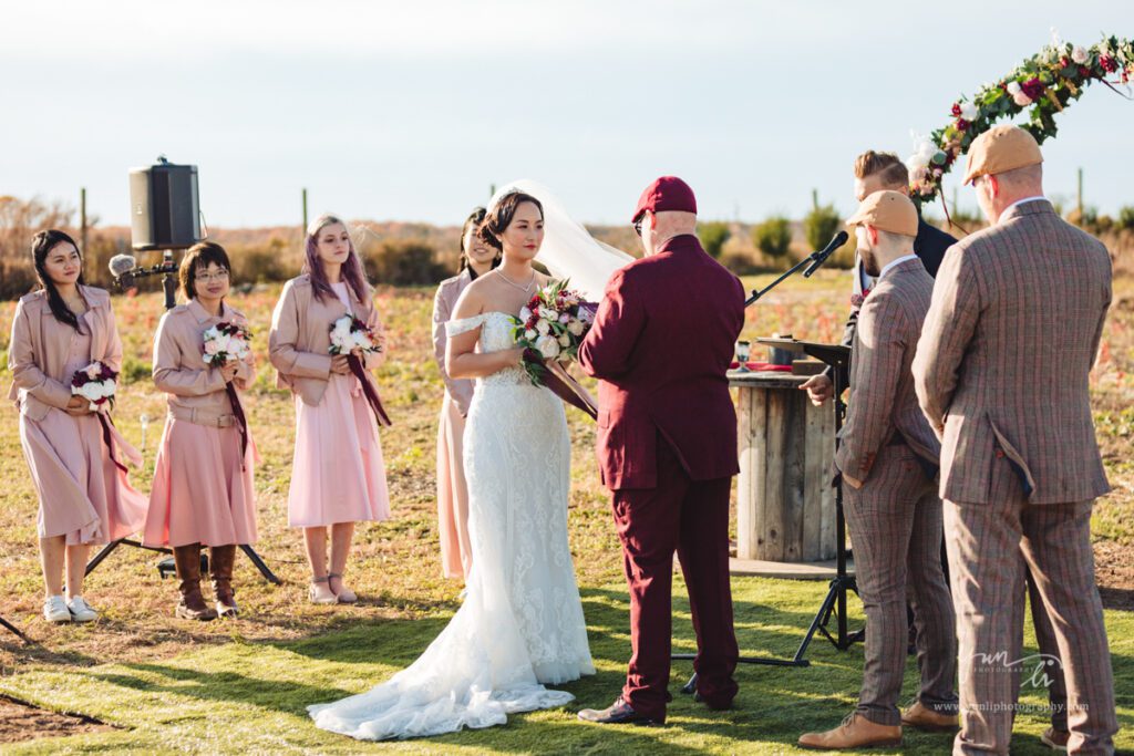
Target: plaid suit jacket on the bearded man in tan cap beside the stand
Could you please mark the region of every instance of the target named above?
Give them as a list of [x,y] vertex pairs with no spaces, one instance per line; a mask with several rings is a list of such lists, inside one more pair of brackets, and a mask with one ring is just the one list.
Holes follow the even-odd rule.
[[865,481],[895,434],[936,466],[941,444],[917,406],[911,365],[933,279],[920,260],[886,272],[862,305],[850,352],[850,402],[835,462]]

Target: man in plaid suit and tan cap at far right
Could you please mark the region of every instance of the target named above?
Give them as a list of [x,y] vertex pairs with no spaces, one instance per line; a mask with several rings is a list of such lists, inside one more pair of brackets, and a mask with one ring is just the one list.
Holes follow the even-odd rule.
[[973,141],[965,182],[991,227],[946,255],[914,360],[942,440],[964,719],[955,754],[1008,753],[1024,570],[1059,647],[1068,749],[1114,753],[1118,731],[1090,526],[1093,500],[1109,491],[1088,383],[1110,257],[1043,198],[1042,161],[1015,126]]

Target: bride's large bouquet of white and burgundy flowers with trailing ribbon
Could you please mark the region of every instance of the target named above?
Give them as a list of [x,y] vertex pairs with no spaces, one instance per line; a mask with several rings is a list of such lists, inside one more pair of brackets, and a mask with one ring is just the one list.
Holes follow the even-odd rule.
[[[513,337],[524,348],[524,371],[533,385],[545,385],[591,417],[594,402],[564,368],[576,359],[578,347],[594,324],[598,305],[568,288],[568,280],[551,281],[535,292],[513,317]],[[548,362],[550,360],[550,363]]]

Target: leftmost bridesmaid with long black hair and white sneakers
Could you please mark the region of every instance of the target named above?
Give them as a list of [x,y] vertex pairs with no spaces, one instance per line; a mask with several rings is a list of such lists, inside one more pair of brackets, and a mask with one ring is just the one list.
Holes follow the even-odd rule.
[[95,360],[121,368],[110,295],[83,283],[83,257],[62,231],[36,233],[32,256],[42,288],[16,306],[9,398],[19,408],[19,438],[40,499],[43,615],[50,622],[88,622],[98,617],[83,598],[91,545],[125,538],[145,518],[146,498],[121,467],[139,465],[142,456],[70,390],[75,373]]

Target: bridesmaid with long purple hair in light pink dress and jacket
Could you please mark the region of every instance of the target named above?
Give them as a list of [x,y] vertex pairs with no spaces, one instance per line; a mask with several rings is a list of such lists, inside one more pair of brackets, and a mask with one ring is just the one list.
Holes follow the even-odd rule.
[[[316,604],[358,600],[342,580],[355,524],[390,516],[378,422],[345,355],[332,356],[331,325],[352,313],[381,337],[373,292],[346,223],[321,215],[307,228],[304,272],[284,286],[268,347],[279,384],[295,396],[295,458],[288,524],[304,528]],[[386,351],[366,354],[363,377]],[[330,569],[327,538],[330,529]]]

